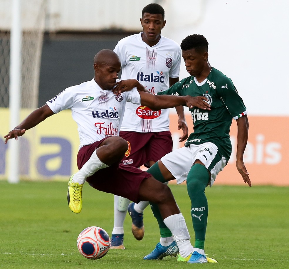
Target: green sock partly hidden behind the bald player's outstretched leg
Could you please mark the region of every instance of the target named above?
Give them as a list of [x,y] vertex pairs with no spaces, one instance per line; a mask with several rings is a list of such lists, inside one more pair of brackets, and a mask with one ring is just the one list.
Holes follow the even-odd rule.
[[[154,165],[152,165],[149,169],[147,169],[147,172],[152,174],[152,176],[157,179],[158,181],[164,183],[166,180],[164,179],[161,171],[159,170],[159,165],[156,162]],[[152,213],[154,214],[154,217],[157,219],[157,223],[159,224],[159,232],[161,234],[161,237],[171,237],[172,233],[169,230],[169,228],[164,224],[164,220],[161,216],[161,213],[159,212],[159,208],[157,204],[150,203]]]

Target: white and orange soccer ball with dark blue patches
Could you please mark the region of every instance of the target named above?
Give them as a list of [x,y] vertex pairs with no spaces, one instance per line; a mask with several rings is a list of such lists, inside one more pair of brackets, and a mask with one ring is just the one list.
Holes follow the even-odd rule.
[[105,230],[97,226],[85,228],[77,238],[77,248],[85,258],[102,258],[110,248],[110,238]]

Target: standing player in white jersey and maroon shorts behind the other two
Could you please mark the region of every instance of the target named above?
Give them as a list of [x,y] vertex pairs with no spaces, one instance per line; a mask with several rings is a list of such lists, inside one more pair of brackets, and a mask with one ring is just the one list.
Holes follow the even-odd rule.
[[[151,93],[157,94],[179,81],[181,49],[175,41],[161,36],[166,21],[164,9],[159,4],[145,6],[140,22],[143,31],[120,40],[114,51],[122,63],[121,79],[135,78]],[[182,128],[184,133],[179,138],[182,142],[188,136],[188,127],[183,107],[176,107],[176,110],[179,115],[178,129]],[[128,142],[128,150],[122,160],[124,165],[151,167],[172,151],[169,109],[153,111],[149,107],[128,103],[120,137]],[[115,219],[110,248],[125,249],[123,224],[128,207],[133,221],[132,233],[137,240],[143,238],[142,212],[147,205],[148,202],[129,205],[127,199],[115,196]]]

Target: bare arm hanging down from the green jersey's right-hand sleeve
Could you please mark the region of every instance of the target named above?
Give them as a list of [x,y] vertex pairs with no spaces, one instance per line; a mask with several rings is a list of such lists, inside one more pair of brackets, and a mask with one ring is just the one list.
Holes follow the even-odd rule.
[[251,180],[249,178],[249,173],[245,167],[243,162],[243,155],[248,141],[248,130],[249,130],[249,122],[247,115],[238,118],[237,120],[237,127],[238,127],[238,134],[237,134],[237,159],[236,159],[236,166],[243,177],[244,182],[251,187]]

